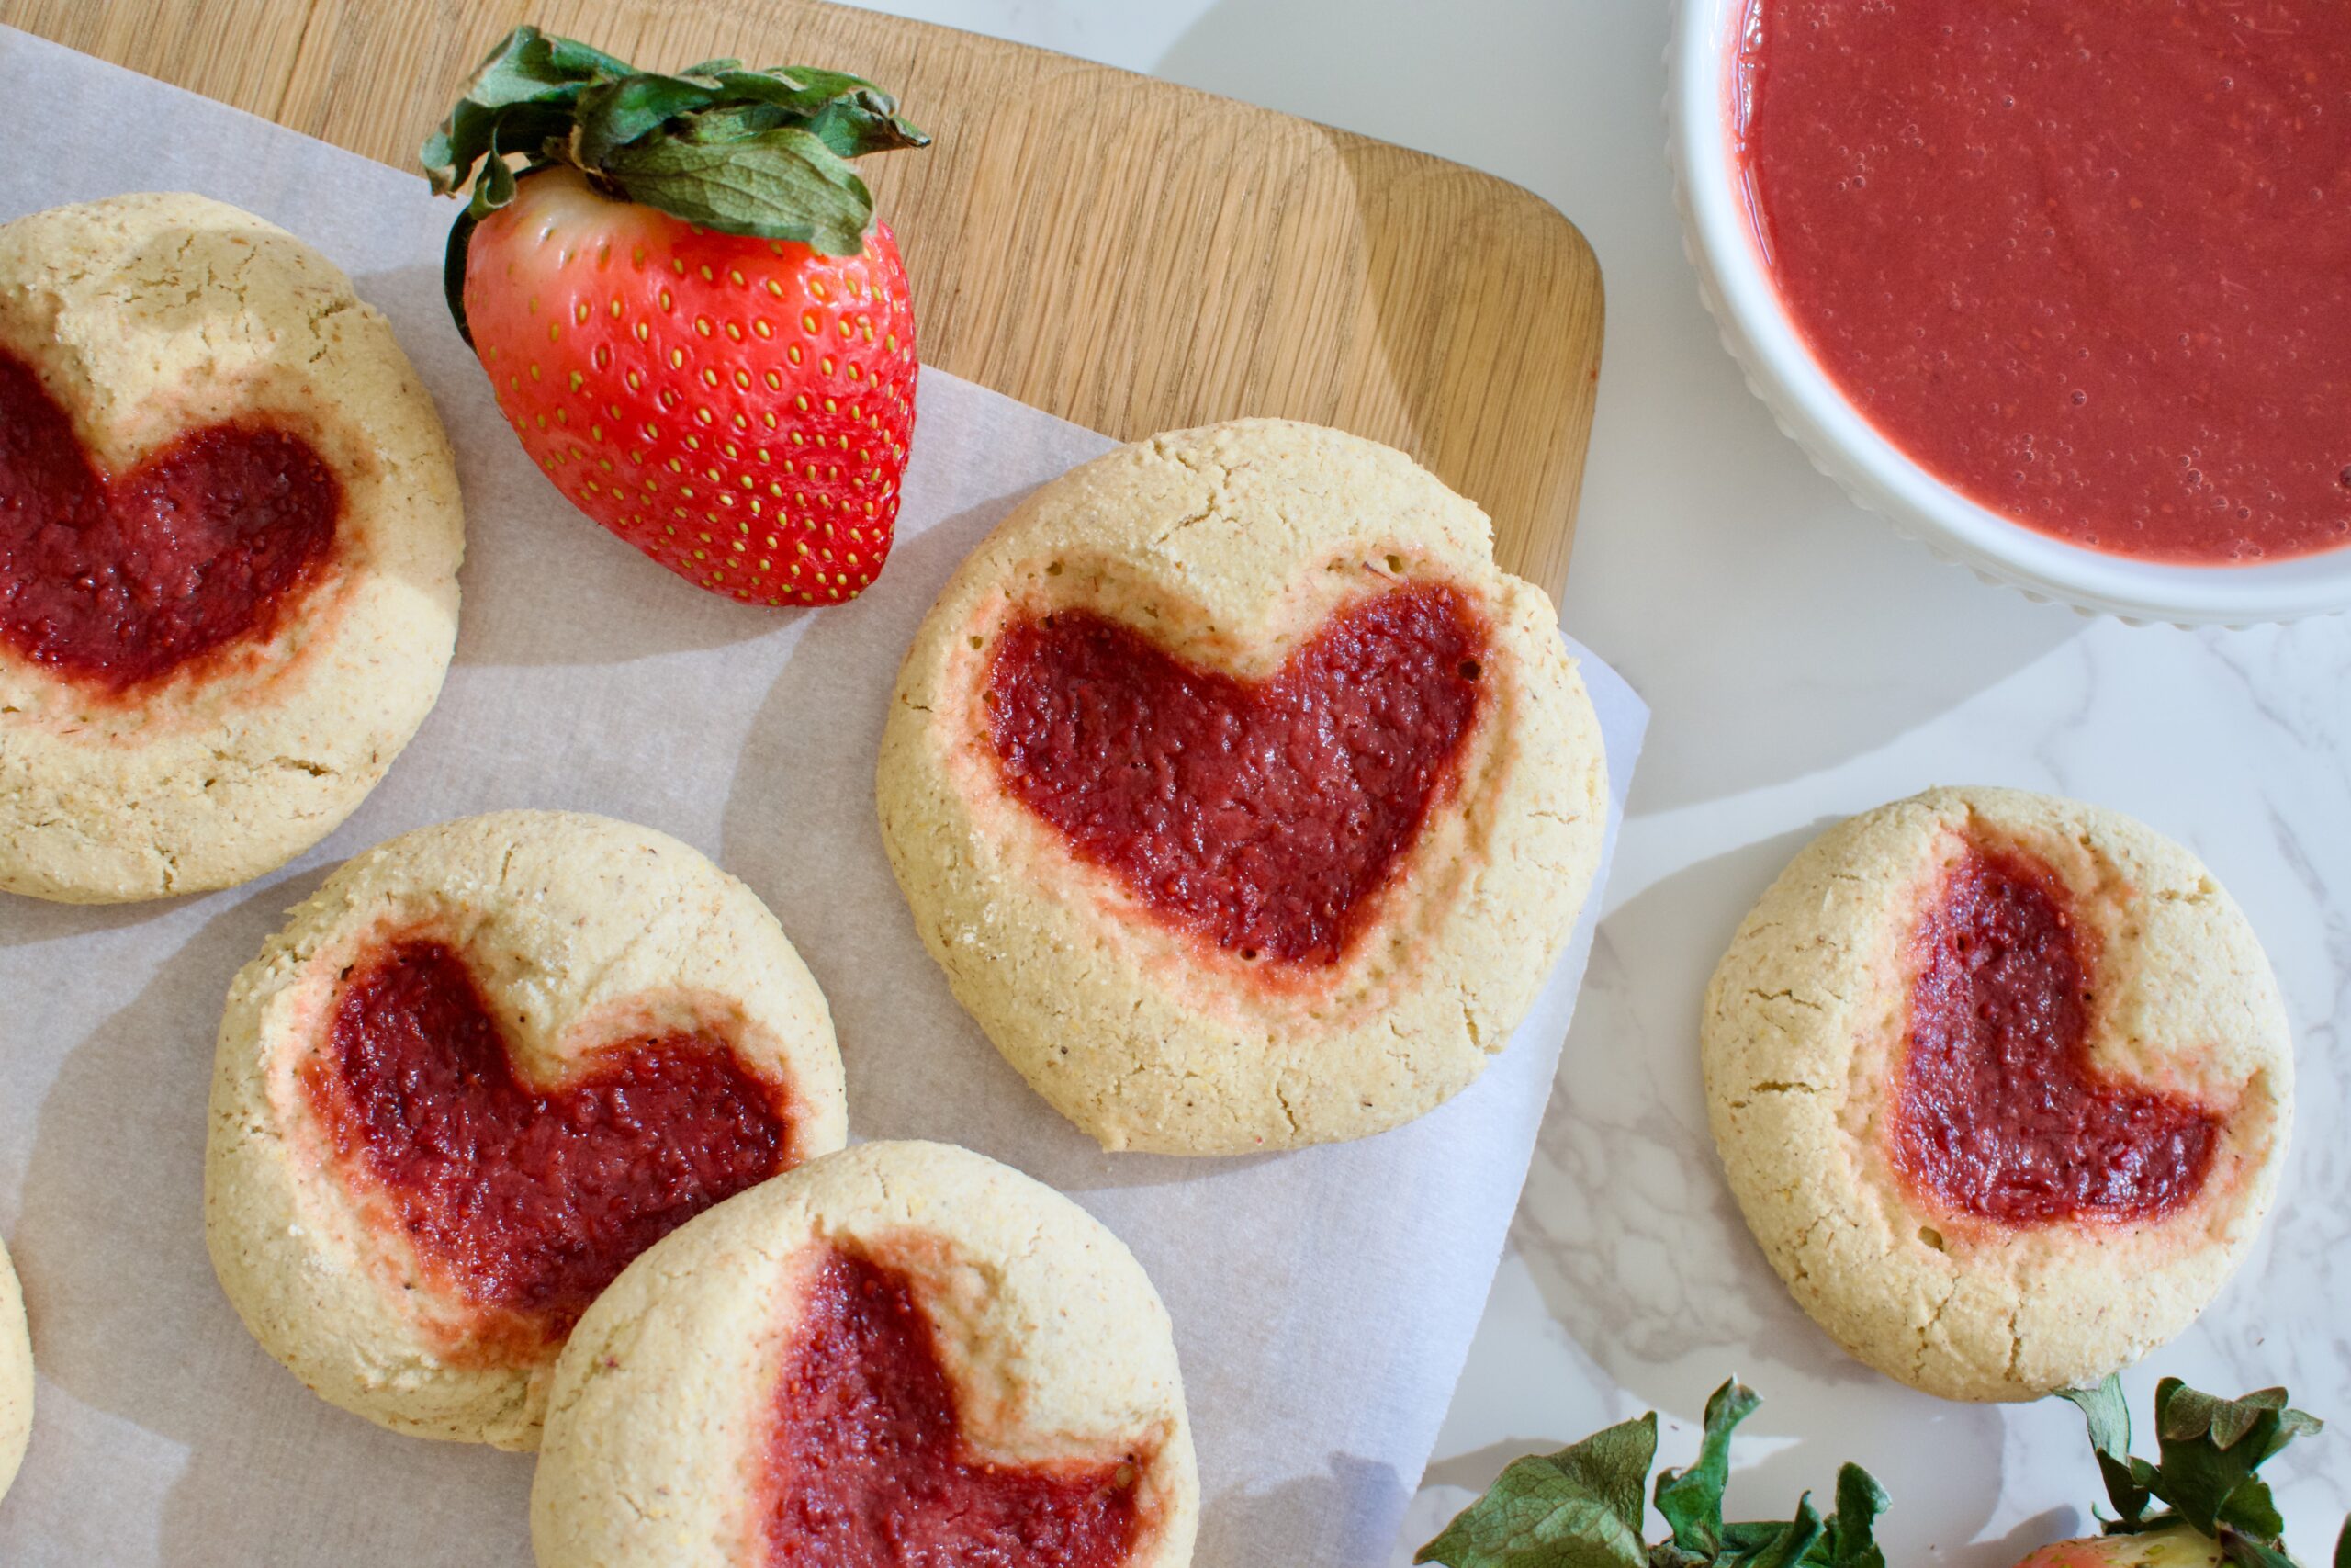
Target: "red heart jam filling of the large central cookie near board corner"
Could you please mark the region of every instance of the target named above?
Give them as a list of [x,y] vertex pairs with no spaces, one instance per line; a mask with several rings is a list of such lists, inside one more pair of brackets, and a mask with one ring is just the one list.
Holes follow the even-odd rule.
[[1136,898],[1244,959],[1328,966],[1451,788],[1483,658],[1436,583],[1338,611],[1265,682],[1060,609],[997,639],[987,731],[1013,799]]

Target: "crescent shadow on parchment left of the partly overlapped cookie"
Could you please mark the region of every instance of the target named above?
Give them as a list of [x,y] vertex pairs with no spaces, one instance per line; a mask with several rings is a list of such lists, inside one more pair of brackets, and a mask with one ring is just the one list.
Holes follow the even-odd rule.
[[[221,1001],[284,910],[331,870],[275,882],[209,919],[59,1067],[14,1241],[35,1359],[75,1401],[188,1448],[155,1542],[169,1568],[520,1568],[529,1458],[404,1439],[334,1410],[247,1335],[205,1253]],[[132,1502],[113,1474],[87,1481]],[[92,1561],[146,1544],[106,1542]]]

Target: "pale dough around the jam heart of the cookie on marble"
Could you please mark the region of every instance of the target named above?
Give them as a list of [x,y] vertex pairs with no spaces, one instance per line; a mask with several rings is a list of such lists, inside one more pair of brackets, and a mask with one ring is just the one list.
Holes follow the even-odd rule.
[[[2219,1117],[2175,1208],[2010,1225],[1895,1166],[1914,929],[1970,849],[2022,851],[2067,891],[2092,1072]],[[2276,980],[2212,875],[2116,811],[2020,790],[1930,790],[1815,839],[1716,969],[1702,1053],[1730,1190],[1789,1291],[1944,1399],[2097,1382],[2186,1328],[2252,1246],[2292,1112]]]

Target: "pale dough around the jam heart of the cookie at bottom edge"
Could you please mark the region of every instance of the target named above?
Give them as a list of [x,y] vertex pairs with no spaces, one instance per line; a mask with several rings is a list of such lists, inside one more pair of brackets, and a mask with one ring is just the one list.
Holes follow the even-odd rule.
[[959,1460],[1110,1469],[1133,1488],[1121,1568],[1192,1561],[1199,1474],[1176,1342],[1133,1253],[992,1159],[868,1143],[684,1225],[581,1319],[531,1486],[541,1568],[773,1561],[778,1380],[811,1286],[844,1253],[898,1274],[929,1321]]

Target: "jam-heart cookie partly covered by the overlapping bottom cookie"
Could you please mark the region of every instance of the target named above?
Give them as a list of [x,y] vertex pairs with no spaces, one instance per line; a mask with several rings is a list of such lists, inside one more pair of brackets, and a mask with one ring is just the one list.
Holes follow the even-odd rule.
[[750,889],[644,827],[503,811],[350,860],[237,976],[205,1232],[320,1396],[529,1448],[630,1258],[844,1135],[825,999]]

